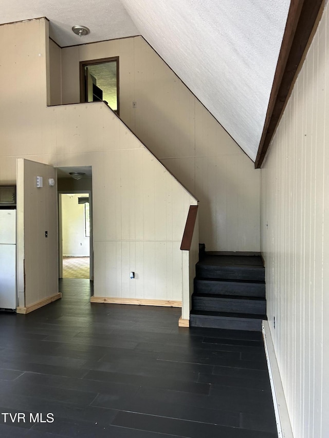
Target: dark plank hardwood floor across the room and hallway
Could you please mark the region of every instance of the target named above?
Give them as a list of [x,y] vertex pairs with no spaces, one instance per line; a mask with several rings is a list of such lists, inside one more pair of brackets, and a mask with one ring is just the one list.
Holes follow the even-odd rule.
[[0,313],[0,436],[277,437],[261,333],[90,304],[88,280],[60,291],[28,315]]

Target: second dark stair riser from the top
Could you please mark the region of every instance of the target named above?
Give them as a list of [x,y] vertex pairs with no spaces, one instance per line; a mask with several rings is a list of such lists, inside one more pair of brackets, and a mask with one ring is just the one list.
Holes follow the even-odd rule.
[[238,295],[265,298],[265,284],[234,283],[195,279],[194,292],[198,294]]

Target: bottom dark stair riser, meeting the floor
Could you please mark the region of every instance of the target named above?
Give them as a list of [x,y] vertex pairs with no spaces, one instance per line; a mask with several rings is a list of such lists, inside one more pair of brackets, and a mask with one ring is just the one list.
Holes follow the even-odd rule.
[[207,327],[211,329],[248,330],[259,332],[262,330],[262,320],[244,320],[240,318],[204,317],[202,315],[190,316],[190,327]]

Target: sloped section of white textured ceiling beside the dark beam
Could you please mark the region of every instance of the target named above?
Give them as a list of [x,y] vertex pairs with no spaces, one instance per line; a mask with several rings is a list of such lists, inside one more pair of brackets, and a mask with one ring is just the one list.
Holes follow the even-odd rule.
[[145,40],[254,161],[289,0],[122,3]]

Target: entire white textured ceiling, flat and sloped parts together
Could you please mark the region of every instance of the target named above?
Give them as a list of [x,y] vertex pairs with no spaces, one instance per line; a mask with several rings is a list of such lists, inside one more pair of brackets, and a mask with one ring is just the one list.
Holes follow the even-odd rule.
[[[46,16],[61,47],[142,35],[254,161],[289,0],[2,0],[0,23]],[[84,25],[81,39],[71,31]]]

